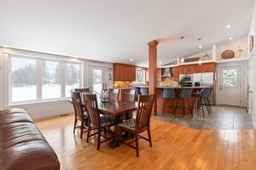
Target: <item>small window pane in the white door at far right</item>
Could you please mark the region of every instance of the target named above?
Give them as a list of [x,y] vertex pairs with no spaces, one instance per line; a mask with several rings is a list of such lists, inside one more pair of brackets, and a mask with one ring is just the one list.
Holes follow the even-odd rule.
[[237,70],[224,70],[222,75],[222,81],[224,87],[236,87],[237,86]]

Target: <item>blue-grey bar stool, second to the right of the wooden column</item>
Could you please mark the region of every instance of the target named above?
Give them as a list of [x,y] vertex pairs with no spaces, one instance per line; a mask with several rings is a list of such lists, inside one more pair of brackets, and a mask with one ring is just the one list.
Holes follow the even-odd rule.
[[[192,112],[192,109],[191,109],[190,104],[189,104],[189,98],[191,98],[191,94],[192,94],[192,88],[183,88],[182,93],[177,94],[177,104],[178,104],[178,101],[181,99],[182,105],[177,106],[177,104],[176,104],[176,107],[175,107],[175,110],[174,110],[174,116],[176,115],[177,108],[181,108],[183,110],[183,116],[185,115],[185,109],[189,109],[189,111],[191,111],[191,114],[193,116],[193,112]],[[185,107],[185,99],[187,99],[189,108]]]

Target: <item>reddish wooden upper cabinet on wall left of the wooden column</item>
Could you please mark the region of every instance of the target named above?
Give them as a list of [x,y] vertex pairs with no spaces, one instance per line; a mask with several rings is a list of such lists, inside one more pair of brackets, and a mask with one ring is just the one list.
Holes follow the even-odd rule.
[[136,81],[136,66],[114,63],[113,81]]

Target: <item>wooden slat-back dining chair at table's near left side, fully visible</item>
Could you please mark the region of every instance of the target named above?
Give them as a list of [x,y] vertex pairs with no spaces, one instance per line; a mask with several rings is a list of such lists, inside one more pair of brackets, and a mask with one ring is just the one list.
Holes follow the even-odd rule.
[[[108,116],[100,116],[96,94],[84,94],[84,101],[85,101],[85,106],[88,111],[88,117],[89,117],[89,121],[88,121],[89,126],[88,126],[86,142],[88,143],[89,138],[97,134],[97,150],[100,150],[101,143],[109,139],[113,139],[113,137],[107,138],[106,136],[103,136],[102,131],[105,131],[107,128],[114,126],[114,122],[113,122],[113,119],[111,119]],[[90,134],[91,127],[94,127],[95,129],[97,129],[97,132]],[[101,141],[101,137],[105,139]]]

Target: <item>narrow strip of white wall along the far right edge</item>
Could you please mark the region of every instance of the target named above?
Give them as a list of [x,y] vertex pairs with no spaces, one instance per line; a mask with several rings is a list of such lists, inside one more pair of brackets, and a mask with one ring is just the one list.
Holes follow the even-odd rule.
[[248,94],[248,113],[252,116],[253,119],[253,126],[256,128],[256,3],[254,3],[253,8],[253,17],[251,21],[251,26],[248,31],[248,49],[249,49],[249,37],[253,35],[254,37],[254,48],[251,53],[249,53],[249,57],[251,58],[248,62],[248,86],[249,91],[252,91],[252,93]]

